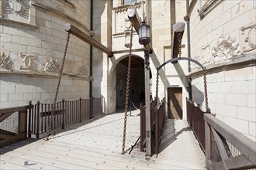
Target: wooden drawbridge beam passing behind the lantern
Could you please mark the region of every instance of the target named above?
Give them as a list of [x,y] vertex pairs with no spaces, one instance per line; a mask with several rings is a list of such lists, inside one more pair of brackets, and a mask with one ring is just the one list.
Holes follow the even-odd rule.
[[[133,27],[136,30],[137,34],[139,35],[141,21],[140,21],[140,17],[137,13],[136,8],[129,8],[127,10],[127,15],[128,15],[128,18],[130,19],[130,22],[133,22]],[[153,52],[150,42],[147,45],[145,45],[144,47],[145,47],[145,49],[148,50],[149,53]]]

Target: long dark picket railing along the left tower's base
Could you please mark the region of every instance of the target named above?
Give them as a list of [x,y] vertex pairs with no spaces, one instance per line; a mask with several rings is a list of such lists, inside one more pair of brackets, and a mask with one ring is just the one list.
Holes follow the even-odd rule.
[[[53,106],[54,104],[42,104],[39,101],[36,104],[29,102],[29,138],[42,138],[47,134]],[[67,125],[99,117],[103,113],[102,106],[103,97],[58,102],[55,106],[50,133],[60,131]]]

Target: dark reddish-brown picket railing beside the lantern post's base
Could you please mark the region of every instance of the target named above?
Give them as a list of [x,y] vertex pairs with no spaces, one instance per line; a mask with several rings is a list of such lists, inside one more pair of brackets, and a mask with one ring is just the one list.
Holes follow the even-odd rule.
[[[150,102],[150,127],[151,127],[151,148],[152,153],[158,154],[161,136],[164,129],[165,109],[164,99],[160,104],[157,100]],[[140,151],[144,151],[146,142],[146,110],[140,104]]]

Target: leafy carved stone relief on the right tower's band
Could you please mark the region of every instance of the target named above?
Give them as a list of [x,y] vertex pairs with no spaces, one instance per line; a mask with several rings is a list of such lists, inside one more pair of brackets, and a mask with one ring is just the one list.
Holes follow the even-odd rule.
[[212,53],[213,62],[230,59],[241,54],[239,43],[236,42],[236,38],[231,39],[230,36],[228,36],[227,39],[223,36],[220,37],[220,41],[218,41],[216,46],[213,47]]

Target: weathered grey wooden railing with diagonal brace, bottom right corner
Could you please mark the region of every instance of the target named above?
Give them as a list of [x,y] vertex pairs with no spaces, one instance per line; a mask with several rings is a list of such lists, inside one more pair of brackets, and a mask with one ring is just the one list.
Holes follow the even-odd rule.
[[256,168],[254,141],[212,114],[204,114],[204,119],[207,169]]

